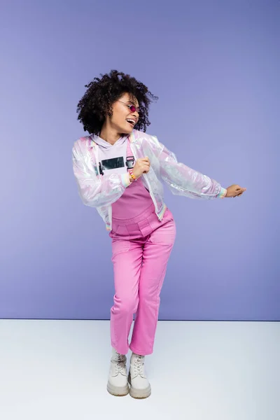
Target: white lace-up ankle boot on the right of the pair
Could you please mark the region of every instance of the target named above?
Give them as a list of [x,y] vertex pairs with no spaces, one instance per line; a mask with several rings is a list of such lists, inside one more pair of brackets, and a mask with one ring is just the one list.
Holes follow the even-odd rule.
[[145,356],[132,353],[130,358],[130,395],[133,398],[147,398],[151,395],[151,385],[146,377],[144,367]]

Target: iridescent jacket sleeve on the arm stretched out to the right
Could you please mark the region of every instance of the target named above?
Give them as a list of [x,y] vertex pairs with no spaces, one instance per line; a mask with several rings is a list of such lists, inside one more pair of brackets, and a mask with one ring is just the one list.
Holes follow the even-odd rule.
[[156,137],[153,137],[153,141],[158,150],[160,176],[173,194],[202,200],[225,197],[227,190],[220,183],[183,163],[179,163],[176,155],[160,143]]

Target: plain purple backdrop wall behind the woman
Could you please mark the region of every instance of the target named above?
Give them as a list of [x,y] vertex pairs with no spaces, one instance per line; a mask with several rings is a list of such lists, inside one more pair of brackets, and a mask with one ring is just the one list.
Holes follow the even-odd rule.
[[1,318],[109,319],[111,243],[78,197],[84,85],[119,69],[160,99],[147,132],[236,199],[166,193],[160,319],[280,320],[279,1],[1,3]]

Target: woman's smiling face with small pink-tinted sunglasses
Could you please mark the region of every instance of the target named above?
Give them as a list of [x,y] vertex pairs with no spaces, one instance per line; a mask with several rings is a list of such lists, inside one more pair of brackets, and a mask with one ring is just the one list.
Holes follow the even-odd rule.
[[118,133],[130,134],[134,125],[139,120],[139,113],[137,111],[131,111],[129,105],[134,105],[139,110],[137,99],[125,93],[113,103],[113,116],[106,118],[106,123],[109,123],[111,128]]

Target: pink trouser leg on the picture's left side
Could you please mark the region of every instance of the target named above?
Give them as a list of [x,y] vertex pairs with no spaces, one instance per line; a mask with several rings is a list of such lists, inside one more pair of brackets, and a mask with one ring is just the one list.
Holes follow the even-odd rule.
[[127,354],[133,314],[139,303],[143,242],[113,239],[112,251],[115,295],[111,307],[111,345],[118,353]]

